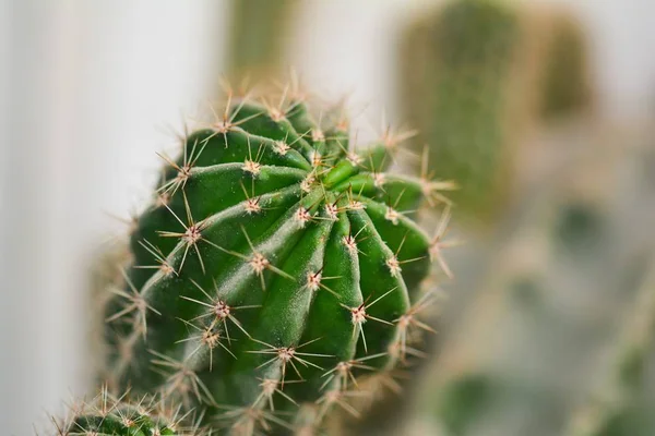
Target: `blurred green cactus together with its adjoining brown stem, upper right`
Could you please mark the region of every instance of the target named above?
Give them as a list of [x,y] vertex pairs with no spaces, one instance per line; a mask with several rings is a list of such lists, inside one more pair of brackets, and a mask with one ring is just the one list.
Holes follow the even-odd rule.
[[505,210],[517,148],[540,117],[590,105],[585,50],[568,15],[497,0],[449,1],[406,29],[403,116],[434,175],[463,185],[453,199],[469,221]]

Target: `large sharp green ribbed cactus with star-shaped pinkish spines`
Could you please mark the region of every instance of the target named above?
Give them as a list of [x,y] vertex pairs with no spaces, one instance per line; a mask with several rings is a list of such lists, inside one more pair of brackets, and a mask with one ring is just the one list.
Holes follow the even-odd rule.
[[[164,156],[133,262],[107,308],[109,378],[204,404],[233,434],[317,429],[413,352],[449,215],[413,221],[448,182],[385,172],[404,135],[356,152],[337,111],[229,97]],[[289,417],[290,416],[290,417]],[[283,419],[284,417],[284,419]]]

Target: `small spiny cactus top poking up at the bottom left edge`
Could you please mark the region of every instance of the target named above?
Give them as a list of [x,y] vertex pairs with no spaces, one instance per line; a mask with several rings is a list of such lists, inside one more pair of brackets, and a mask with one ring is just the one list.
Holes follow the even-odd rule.
[[180,408],[167,408],[154,398],[138,402],[112,398],[106,387],[92,402],[71,408],[63,421],[52,419],[57,436],[200,436],[199,426],[183,426]]

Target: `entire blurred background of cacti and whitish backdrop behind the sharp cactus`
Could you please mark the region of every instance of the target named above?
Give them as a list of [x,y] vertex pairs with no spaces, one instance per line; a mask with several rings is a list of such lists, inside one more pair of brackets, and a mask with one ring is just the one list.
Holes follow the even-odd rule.
[[[90,271],[155,152],[222,75],[293,66],[348,96],[361,142],[383,113],[419,129],[409,146],[462,186],[429,382],[390,400],[386,432],[654,435],[653,16],[651,0],[0,0],[4,433],[88,390]],[[347,429],[384,433],[364,427]]]

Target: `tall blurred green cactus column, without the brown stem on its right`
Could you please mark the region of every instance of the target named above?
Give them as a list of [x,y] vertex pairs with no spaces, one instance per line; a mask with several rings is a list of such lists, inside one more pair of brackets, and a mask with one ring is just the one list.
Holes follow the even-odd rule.
[[503,195],[507,89],[520,38],[513,9],[461,0],[421,19],[402,47],[404,114],[420,129],[415,144],[430,145],[440,177],[465,182],[453,201],[467,215],[489,213]]

